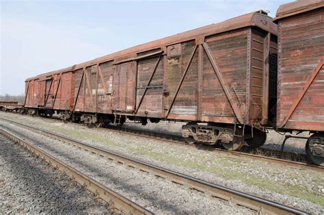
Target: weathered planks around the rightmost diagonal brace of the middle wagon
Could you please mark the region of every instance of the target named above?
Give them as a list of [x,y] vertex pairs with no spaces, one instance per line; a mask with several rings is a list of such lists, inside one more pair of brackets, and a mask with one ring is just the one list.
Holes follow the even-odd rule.
[[[211,49],[219,71],[230,89],[231,99],[241,101],[237,105],[238,108],[242,108],[240,111],[243,116],[245,116],[246,102],[247,32],[247,29],[241,29],[206,38],[206,43]],[[202,58],[202,119],[219,123],[234,123],[235,114],[205,50]],[[237,94],[233,91],[232,84]]]

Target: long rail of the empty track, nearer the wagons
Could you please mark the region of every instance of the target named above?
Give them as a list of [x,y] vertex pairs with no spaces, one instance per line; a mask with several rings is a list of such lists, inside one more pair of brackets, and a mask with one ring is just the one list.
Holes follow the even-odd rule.
[[[3,119],[3,118],[0,118]],[[180,184],[183,186],[187,186],[193,190],[198,190],[205,194],[210,195],[211,197],[217,197],[219,199],[223,199],[229,201],[232,204],[241,205],[243,207],[247,207],[249,209],[255,210],[257,212],[263,212],[266,214],[308,214],[302,210],[298,210],[293,207],[288,207],[286,205],[275,203],[273,201],[269,201],[267,199],[262,199],[260,197],[256,197],[252,194],[246,194],[244,192],[240,192],[238,190],[234,190],[232,188],[226,188],[224,186],[219,186],[217,184],[212,184],[211,182],[204,181],[202,179],[196,179],[189,175],[184,175],[182,173],[177,173],[173,170],[168,170],[166,168],[162,168],[160,166],[156,166],[153,164],[148,164],[146,162],[141,162],[139,160],[135,160],[131,157],[126,157],[125,155],[120,155],[118,153],[114,153],[112,151],[108,151],[107,149],[100,149],[99,147],[94,147],[90,144],[80,142],[78,140],[68,138],[66,136],[60,136],[54,134],[50,131],[45,131],[43,129],[38,129],[36,127],[32,127],[30,125],[25,125],[23,123],[16,123],[14,121],[10,121],[5,119],[6,121],[15,123],[16,125],[22,125],[34,131],[40,131],[46,136],[50,136],[51,138],[55,138],[58,140],[62,140],[69,144],[72,144],[76,147],[84,149],[86,151],[91,151],[92,153],[96,153],[102,157],[106,157],[109,160],[114,160],[120,164],[124,164],[130,166],[131,168],[138,168],[141,171],[146,173],[152,173],[157,175],[158,177],[162,177],[165,179],[169,179],[176,184]]]

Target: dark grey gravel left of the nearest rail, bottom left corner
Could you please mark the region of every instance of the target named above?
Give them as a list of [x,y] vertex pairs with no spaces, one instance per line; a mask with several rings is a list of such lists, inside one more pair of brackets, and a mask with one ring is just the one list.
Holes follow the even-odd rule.
[[0,214],[110,214],[109,205],[0,135]]

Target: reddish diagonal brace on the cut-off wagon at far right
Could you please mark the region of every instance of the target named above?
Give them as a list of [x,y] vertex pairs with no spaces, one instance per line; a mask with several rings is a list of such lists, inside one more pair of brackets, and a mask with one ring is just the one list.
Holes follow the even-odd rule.
[[291,109],[288,111],[288,114],[284,117],[284,121],[280,125],[280,128],[284,127],[284,125],[286,125],[286,123],[288,122],[288,119],[291,118],[291,115],[296,110],[297,105],[299,104],[299,102],[301,101],[301,99],[303,99],[303,96],[306,94],[308,88],[310,88],[310,84],[312,84],[312,82],[314,81],[316,75],[319,74],[319,71],[321,71],[321,68],[323,66],[323,62],[324,62],[324,56],[322,57],[322,59],[317,64],[314,72],[312,73],[312,75],[310,76],[310,78],[308,79],[308,81],[306,81],[306,84],[303,87],[303,90],[301,90],[301,92],[299,92],[298,97],[293,102],[293,105],[291,105]]

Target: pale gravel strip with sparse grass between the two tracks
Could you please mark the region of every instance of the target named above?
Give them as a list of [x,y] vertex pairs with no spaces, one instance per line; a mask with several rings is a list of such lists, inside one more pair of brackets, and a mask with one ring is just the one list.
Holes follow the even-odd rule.
[[46,118],[4,113],[0,113],[0,116],[314,214],[324,213],[324,174],[314,170],[119,135]]

